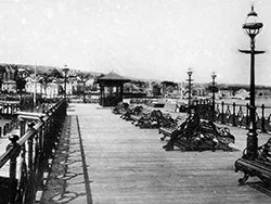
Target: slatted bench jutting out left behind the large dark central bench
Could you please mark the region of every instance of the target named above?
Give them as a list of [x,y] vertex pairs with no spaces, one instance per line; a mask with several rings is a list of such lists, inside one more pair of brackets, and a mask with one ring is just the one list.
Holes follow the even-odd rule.
[[177,118],[171,123],[170,126],[159,127],[158,133],[163,133],[160,138],[164,141],[167,137],[171,137],[172,132],[178,129],[186,120],[186,116],[178,115]]

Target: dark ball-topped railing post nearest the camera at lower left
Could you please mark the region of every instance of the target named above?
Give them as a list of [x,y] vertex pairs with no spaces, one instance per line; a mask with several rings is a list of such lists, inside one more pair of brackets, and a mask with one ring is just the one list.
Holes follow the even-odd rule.
[[10,204],[15,203],[15,197],[16,197],[16,163],[17,163],[17,156],[20,155],[20,144],[17,143],[18,141],[18,136],[12,135],[9,137],[9,140],[11,143],[7,146],[7,150],[14,150],[14,153],[11,155],[10,158],[10,179],[9,179],[9,200]]

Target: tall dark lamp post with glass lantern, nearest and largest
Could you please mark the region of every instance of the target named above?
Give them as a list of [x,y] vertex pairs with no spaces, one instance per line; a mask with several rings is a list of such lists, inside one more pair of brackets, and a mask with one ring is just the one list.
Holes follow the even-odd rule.
[[255,50],[255,37],[261,31],[262,23],[258,22],[257,13],[251,11],[247,14],[243,29],[250,38],[250,50],[240,50],[242,53],[250,54],[250,99],[249,99],[249,130],[247,133],[247,151],[244,155],[247,158],[255,158],[258,154],[258,135],[256,132],[256,106],[255,106],[255,54],[264,53],[264,51]]

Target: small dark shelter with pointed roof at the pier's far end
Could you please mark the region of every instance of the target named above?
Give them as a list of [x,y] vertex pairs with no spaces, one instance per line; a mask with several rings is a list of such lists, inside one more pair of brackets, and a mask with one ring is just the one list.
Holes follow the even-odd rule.
[[98,78],[100,86],[100,105],[115,106],[124,98],[124,84],[129,82],[130,79],[119,76],[111,72],[109,74]]

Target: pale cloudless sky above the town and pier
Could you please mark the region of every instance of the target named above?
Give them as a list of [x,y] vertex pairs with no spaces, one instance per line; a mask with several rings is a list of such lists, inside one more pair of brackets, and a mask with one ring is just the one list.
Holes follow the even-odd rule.
[[[0,0],[0,62],[195,82],[249,84],[251,0]],[[256,85],[271,86],[271,1],[254,0]]]

